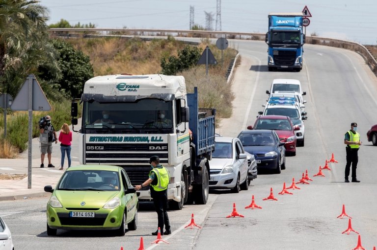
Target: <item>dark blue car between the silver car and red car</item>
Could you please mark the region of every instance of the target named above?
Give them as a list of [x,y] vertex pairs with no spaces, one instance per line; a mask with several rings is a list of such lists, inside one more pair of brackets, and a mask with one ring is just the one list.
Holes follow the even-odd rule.
[[260,169],[285,169],[285,147],[274,130],[244,130],[237,136],[246,152],[253,154]]

